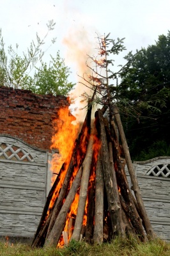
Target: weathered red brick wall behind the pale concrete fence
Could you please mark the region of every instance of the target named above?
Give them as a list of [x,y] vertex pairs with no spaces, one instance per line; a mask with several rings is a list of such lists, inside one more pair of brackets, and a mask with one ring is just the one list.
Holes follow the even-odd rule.
[[42,149],[50,149],[52,120],[69,106],[64,96],[36,95],[0,86],[0,134],[8,134]]

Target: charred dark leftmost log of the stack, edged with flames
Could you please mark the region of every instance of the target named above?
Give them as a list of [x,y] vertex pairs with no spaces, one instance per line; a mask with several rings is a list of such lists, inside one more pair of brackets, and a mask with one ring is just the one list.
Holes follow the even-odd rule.
[[[38,228],[36,230],[35,237],[32,242],[32,246],[36,246],[36,244],[37,246],[39,246],[38,244],[40,243],[42,244],[40,240],[43,239],[43,237],[41,237],[40,234],[42,234],[42,236],[45,236],[45,237],[49,236],[50,230],[52,229],[54,222],[58,216],[59,210],[61,209],[61,206],[63,204],[63,199],[66,196],[68,184],[70,182],[70,177],[74,170],[73,168],[77,168],[77,170],[79,170],[79,167],[81,166],[82,161],[84,161],[84,156],[86,155],[86,148],[88,146],[90,124],[91,124],[91,105],[89,105],[88,107],[88,112],[84,120],[84,123],[82,125],[81,132],[79,133],[79,137],[75,141],[75,145],[73,148],[72,157],[70,159],[70,164],[68,165],[68,169],[65,170],[66,164],[63,163],[63,166],[61,167],[59,175],[56,178],[52,188],[50,189],[49,195],[47,196],[47,200],[43,208],[42,217],[38,225]],[[79,157],[78,155],[81,157]],[[63,178],[63,176],[65,176],[65,178]],[[61,180],[64,180],[64,183],[63,183],[63,186],[61,186],[61,190],[59,191],[60,193],[58,198],[58,194],[56,194],[55,191]],[[53,205],[54,207],[49,209],[51,200],[54,201],[54,205]],[[50,214],[50,222],[49,221],[47,222],[49,227],[47,227],[47,224],[45,224],[45,228],[43,228],[43,225],[47,220],[47,211],[49,211],[49,214],[50,214],[50,211],[52,211],[52,215]],[[35,240],[36,240],[36,243],[35,243]]]

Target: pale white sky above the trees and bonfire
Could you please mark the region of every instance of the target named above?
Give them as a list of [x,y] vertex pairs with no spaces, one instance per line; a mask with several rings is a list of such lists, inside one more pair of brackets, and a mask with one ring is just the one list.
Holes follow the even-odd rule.
[[72,70],[73,83],[79,81],[77,74],[84,72],[80,66],[86,54],[93,52],[96,33],[111,33],[112,39],[125,37],[127,52],[135,53],[135,49],[154,44],[158,35],[167,35],[170,29],[169,0],[0,0],[0,4],[0,28],[6,47],[17,43],[26,51],[36,32],[45,35],[48,20],[56,22],[47,45],[52,37],[57,37],[57,42],[44,60],[59,50]]

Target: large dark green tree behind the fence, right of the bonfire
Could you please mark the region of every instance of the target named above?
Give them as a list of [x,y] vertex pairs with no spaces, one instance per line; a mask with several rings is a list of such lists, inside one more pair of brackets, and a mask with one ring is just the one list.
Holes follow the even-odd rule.
[[122,115],[132,158],[146,160],[169,154],[170,31],[167,36],[158,36],[155,45],[137,52],[125,71],[118,99],[124,106],[136,108],[133,118],[129,113]]

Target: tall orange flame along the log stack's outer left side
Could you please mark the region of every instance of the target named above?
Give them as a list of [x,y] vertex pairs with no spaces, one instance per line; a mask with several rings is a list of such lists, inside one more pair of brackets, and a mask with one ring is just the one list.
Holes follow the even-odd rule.
[[[53,157],[51,161],[51,170],[52,173],[58,173],[63,162],[65,162],[65,169],[61,173],[56,191],[54,191],[52,199],[50,200],[49,211],[52,209],[52,206],[54,205],[54,202],[58,197],[59,191],[65,180],[66,170],[72,157],[72,150],[75,139],[77,138],[79,128],[78,124],[72,124],[72,121],[75,120],[75,117],[70,114],[70,111],[67,107],[60,109],[58,115],[59,118],[53,122],[55,134],[52,136],[52,145],[50,148],[59,148],[59,153],[61,154],[61,163],[59,164],[59,159],[56,161],[56,157]],[[52,180],[52,184],[53,183],[54,180]],[[47,212],[47,216],[49,216],[49,211]]]

